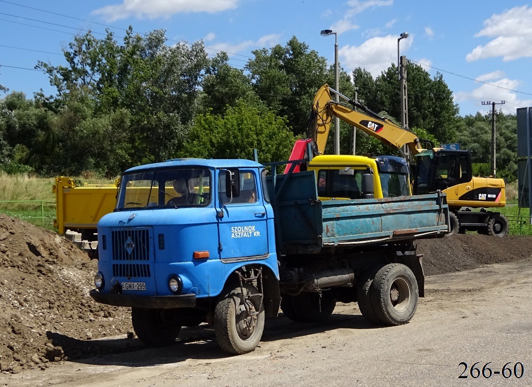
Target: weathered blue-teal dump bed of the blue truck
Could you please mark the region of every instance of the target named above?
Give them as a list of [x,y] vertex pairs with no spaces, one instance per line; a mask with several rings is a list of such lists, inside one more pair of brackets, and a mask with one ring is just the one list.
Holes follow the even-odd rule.
[[449,212],[442,193],[320,201],[315,181],[313,171],[268,180],[281,253],[443,237],[448,231]]

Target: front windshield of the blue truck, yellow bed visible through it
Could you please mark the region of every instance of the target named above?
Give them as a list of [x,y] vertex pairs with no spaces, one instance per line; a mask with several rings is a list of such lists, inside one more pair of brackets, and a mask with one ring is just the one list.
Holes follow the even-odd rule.
[[210,201],[208,169],[161,168],[123,174],[115,211],[206,206]]

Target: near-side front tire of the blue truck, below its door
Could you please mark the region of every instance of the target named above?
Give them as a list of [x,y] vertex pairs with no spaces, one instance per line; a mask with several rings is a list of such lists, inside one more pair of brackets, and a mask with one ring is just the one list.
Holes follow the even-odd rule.
[[[244,285],[244,295],[240,287],[221,298],[214,308],[214,335],[220,348],[231,355],[242,355],[253,351],[259,344],[264,331],[264,307],[256,305],[257,297],[247,296],[259,291],[251,284]],[[246,312],[244,302],[250,308],[250,316]]]

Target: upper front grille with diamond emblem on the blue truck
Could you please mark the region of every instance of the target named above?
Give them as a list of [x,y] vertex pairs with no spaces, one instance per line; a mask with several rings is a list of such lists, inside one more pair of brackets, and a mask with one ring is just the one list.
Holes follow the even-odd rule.
[[149,230],[130,229],[111,232],[113,260],[149,260]]

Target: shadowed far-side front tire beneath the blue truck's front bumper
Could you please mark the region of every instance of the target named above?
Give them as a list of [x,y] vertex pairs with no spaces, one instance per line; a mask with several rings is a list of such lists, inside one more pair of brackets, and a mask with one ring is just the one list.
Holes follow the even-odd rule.
[[167,309],[131,308],[131,323],[136,335],[148,347],[164,347],[176,341],[181,326]]

